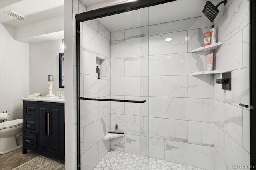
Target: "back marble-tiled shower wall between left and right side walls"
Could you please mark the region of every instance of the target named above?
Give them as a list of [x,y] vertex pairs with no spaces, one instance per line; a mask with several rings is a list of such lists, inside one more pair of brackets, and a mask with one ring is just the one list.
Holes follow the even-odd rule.
[[111,32],[111,98],[146,100],[111,102],[110,128],[126,134],[112,149],[214,169],[213,77],[191,76],[212,51],[190,52],[211,24],[198,17]]

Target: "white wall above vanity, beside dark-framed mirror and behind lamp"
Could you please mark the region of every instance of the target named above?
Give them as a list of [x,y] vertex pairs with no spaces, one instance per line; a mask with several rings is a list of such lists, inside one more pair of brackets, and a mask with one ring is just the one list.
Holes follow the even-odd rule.
[[53,75],[53,90],[64,90],[59,88],[59,53],[64,52],[60,43],[61,39],[29,44],[30,94],[48,94],[48,75]]

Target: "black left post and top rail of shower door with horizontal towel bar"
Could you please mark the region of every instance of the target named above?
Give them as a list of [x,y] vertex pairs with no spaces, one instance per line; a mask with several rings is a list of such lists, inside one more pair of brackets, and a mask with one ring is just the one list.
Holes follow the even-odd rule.
[[[123,12],[128,12],[132,10],[138,10],[144,7],[150,7],[154,5],[164,4],[167,2],[172,2],[176,0],[138,0],[134,2],[128,2],[124,4],[108,6],[104,8],[99,8],[96,10],[83,12],[80,14],[76,14],[76,92],[77,92],[77,104],[76,104],[76,116],[77,116],[77,169],[81,169],[81,151],[80,151],[80,100],[95,100],[91,98],[83,98],[80,97],[80,22],[93,20],[96,18],[102,18],[105,16],[110,16],[114,14],[120,14]],[[106,101],[106,100],[105,100]],[[107,101],[125,101],[125,102],[133,102],[133,103],[144,103],[145,101],[128,101],[128,100],[112,100],[107,99]]]

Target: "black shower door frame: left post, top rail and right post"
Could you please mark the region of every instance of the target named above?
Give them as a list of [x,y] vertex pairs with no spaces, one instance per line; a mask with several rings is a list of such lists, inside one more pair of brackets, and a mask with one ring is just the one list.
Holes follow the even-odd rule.
[[[76,14],[76,82],[77,82],[77,169],[80,155],[80,22],[120,14],[176,0],[138,0]],[[254,10],[253,10],[254,9]],[[256,0],[250,0],[250,165],[256,167]],[[254,30],[254,31],[253,31]],[[246,76],[246,75],[245,75]]]

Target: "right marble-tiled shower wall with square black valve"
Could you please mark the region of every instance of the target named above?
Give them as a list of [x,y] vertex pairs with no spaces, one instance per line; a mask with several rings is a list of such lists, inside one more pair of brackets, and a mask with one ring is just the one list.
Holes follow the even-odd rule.
[[218,41],[215,67],[231,71],[232,90],[222,90],[214,75],[214,169],[250,164],[249,114],[249,2],[230,0],[214,20]]

